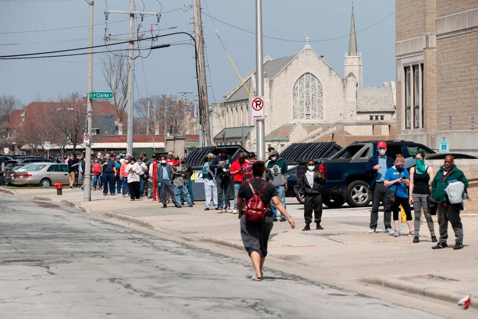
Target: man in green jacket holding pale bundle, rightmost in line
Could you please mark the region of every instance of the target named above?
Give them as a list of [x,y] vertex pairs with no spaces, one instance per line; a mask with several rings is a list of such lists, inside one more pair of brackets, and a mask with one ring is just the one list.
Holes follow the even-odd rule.
[[[461,181],[464,186],[464,192],[468,188],[468,179],[465,177],[463,171],[458,169],[454,163],[454,158],[448,155],[445,162],[438,170],[435,178],[432,181],[432,196],[438,203],[438,225],[440,226],[440,241],[432,249],[447,248],[448,239],[448,222],[452,224],[455,232],[455,247],[454,250],[463,248],[463,225],[460,218],[460,209],[462,203],[450,203],[446,188],[449,183],[454,181]],[[463,196],[463,195],[462,195]]]

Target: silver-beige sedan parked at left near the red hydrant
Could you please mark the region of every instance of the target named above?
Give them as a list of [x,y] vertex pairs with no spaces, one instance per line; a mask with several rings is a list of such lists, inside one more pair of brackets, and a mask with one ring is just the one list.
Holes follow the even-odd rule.
[[25,165],[15,170],[12,174],[13,185],[40,185],[51,186],[59,181],[68,184],[68,165],[52,162],[38,162]]

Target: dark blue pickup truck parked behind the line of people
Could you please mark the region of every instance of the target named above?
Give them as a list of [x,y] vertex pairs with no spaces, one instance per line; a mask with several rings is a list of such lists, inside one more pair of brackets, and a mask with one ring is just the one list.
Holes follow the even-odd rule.
[[[365,174],[365,165],[377,153],[379,141],[354,142],[339,151],[330,159],[315,159],[317,168],[327,178],[323,186],[323,202],[331,208],[338,208],[345,202],[350,207],[364,207],[371,198],[368,194],[368,175]],[[415,164],[413,157],[418,151],[425,154],[434,154],[430,148],[406,141],[386,141],[387,155],[395,158],[397,154],[405,157],[405,167]],[[304,173],[306,162],[300,162],[296,168],[296,175]],[[300,198],[298,186],[294,186],[296,197]]]

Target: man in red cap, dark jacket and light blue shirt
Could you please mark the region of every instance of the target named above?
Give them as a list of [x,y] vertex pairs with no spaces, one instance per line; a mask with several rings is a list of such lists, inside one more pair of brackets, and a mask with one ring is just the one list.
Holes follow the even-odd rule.
[[[378,152],[365,165],[365,174],[369,176],[368,189],[372,194],[372,210],[370,212],[370,230],[369,234],[376,231],[378,224],[378,206],[380,202],[385,203],[385,195],[388,188],[383,185],[385,180],[385,173],[388,168],[392,167],[395,161],[389,157],[387,153],[387,144],[383,141],[378,142]],[[385,207],[385,206],[384,206]],[[383,212],[383,224],[385,226],[385,233],[394,234],[390,224],[390,210],[385,209]]]

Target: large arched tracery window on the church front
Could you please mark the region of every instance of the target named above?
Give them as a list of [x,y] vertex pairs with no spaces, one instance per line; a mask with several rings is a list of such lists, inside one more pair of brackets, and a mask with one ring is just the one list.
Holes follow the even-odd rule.
[[294,84],[292,91],[293,120],[322,120],[323,90],[319,79],[305,73]]

